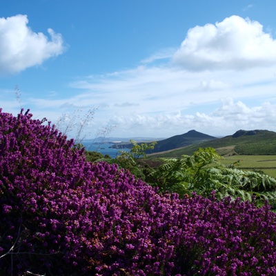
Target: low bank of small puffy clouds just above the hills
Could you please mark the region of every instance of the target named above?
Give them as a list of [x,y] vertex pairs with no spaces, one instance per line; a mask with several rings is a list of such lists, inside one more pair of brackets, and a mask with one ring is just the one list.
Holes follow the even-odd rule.
[[209,135],[231,135],[241,128],[271,130],[275,120],[275,105],[264,102],[260,106],[249,107],[242,101],[227,98],[219,108],[209,113],[183,114],[180,110],[158,115],[133,113],[128,117],[115,115],[110,119],[110,124],[120,126],[122,133],[130,133],[131,130],[137,133],[146,129],[148,135],[164,137],[166,133],[166,137],[170,137],[190,129]]

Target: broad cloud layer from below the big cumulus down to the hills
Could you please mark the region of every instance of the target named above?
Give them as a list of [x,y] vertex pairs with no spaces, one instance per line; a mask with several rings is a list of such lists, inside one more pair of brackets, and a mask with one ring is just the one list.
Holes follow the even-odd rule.
[[60,114],[99,106],[96,124],[115,125],[112,136],[118,137],[170,137],[190,129],[214,136],[276,130],[274,72],[276,67],[229,74],[143,66],[71,83],[78,92],[70,98],[28,101],[52,121],[48,110]]

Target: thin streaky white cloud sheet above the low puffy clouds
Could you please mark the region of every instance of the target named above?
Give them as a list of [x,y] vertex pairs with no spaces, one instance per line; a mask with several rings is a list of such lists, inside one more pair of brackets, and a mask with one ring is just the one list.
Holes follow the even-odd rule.
[[190,108],[191,103],[202,106],[224,97],[272,97],[275,95],[275,70],[262,68],[229,74],[223,70],[191,72],[143,66],[117,72],[116,77],[108,74],[71,83],[72,88],[84,90],[72,99],[72,103],[99,105],[104,99],[109,107],[124,105],[124,110],[116,112],[153,113],[183,110]]

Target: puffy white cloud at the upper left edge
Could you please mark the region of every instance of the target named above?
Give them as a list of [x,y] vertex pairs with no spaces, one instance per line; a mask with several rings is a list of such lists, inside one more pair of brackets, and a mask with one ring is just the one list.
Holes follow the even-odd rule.
[[65,50],[61,34],[48,29],[50,39],[42,32],[32,32],[28,17],[18,14],[0,18],[0,73],[15,73],[39,65]]

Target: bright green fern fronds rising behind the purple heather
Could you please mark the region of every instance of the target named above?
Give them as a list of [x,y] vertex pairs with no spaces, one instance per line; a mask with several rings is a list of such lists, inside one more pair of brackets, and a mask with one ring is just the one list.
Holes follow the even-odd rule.
[[220,155],[213,148],[199,148],[192,156],[164,159],[164,164],[152,172],[150,182],[161,191],[169,190],[181,197],[196,192],[209,197],[240,197],[255,201],[258,206],[268,200],[276,208],[276,179],[262,172],[239,170],[219,163]]

